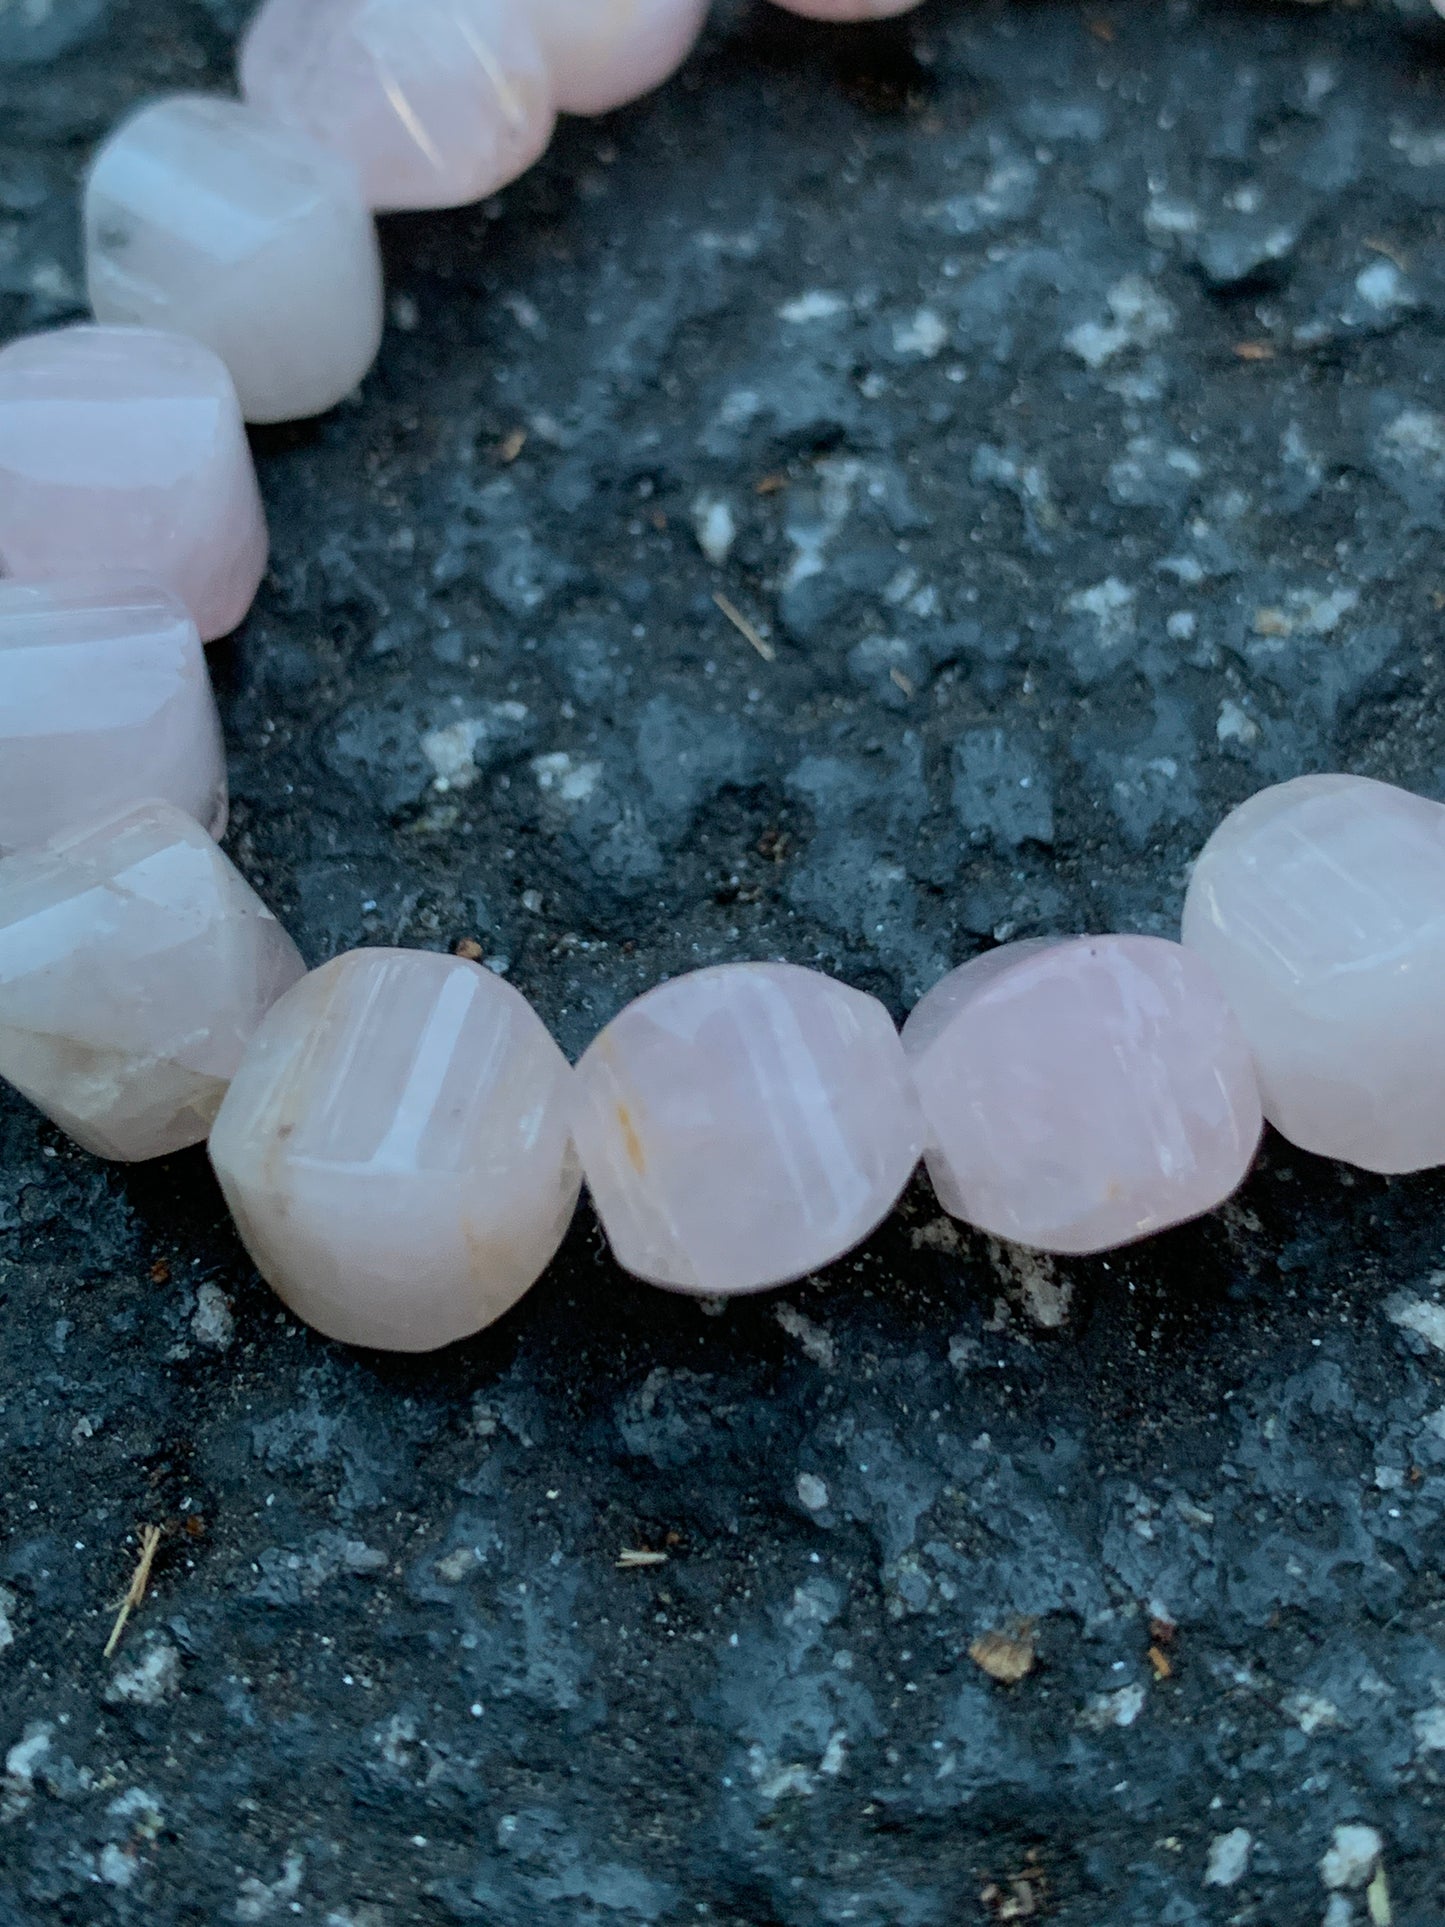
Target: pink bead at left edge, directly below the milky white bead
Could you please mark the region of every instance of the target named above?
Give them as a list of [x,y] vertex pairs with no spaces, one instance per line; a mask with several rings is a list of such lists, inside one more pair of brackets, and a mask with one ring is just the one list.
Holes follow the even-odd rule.
[[62,328],[0,351],[0,570],[121,570],[204,642],[266,572],[266,516],[225,364],[150,328]]

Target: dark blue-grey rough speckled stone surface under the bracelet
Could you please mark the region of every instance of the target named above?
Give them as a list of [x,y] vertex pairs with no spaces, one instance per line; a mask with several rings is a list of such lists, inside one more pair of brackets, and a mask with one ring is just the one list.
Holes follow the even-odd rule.
[[[89,145],[239,12],[0,4],[2,331],[77,312]],[[730,8],[391,224],[364,397],[262,437],[237,859],[312,960],[476,938],[576,1050],[703,960],[902,1010],[1169,931],[1300,769],[1439,794],[1443,235],[1445,37],[1387,8]],[[1441,1181],[1272,1143],[1058,1268],[919,1185],[721,1316],[582,1216],[389,1362],[277,1312],[200,1156],[0,1137],[4,1927],[1445,1919]]]

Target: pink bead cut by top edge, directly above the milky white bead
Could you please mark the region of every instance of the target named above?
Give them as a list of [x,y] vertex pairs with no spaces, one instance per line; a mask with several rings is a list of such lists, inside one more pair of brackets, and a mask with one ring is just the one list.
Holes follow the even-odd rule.
[[555,119],[520,0],[266,0],[241,85],[355,162],[374,208],[482,200],[538,160]]

